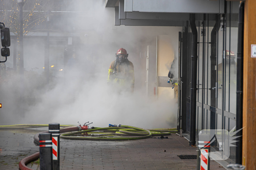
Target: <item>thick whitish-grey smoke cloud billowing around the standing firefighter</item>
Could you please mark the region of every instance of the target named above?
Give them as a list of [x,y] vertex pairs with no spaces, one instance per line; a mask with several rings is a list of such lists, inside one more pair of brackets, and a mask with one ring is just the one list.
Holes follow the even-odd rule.
[[[72,4],[67,9],[84,15],[83,20],[67,18],[67,23],[72,25],[69,35],[79,39],[74,52],[76,63],[71,67],[64,66],[65,43],[51,40],[50,66],[54,65],[55,70],[50,67],[52,76],[46,84],[42,40],[38,43],[24,40],[24,83],[20,83],[20,77],[9,62],[7,79],[0,83],[0,102],[3,104],[0,123],[76,125],[78,121],[81,124],[90,121],[95,127],[106,127],[109,123],[143,128],[176,127],[175,99],[170,99],[168,94],[158,99],[146,96],[143,77],[146,70],[142,68],[146,58],[140,58],[139,54],[147,45],[155,45],[157,35],[177,34],[180,28],[114,26],[114,8],[104,8],[101,0],[80,3],[85,9],[77,5],[78,9],[72,9]],[[94,15],[88,12],[89,7],[94,9]],[[109,64],[115,60],[119,48],[127,50],[128,59],[134,65],[133,94],[117,91],[106,83]]]

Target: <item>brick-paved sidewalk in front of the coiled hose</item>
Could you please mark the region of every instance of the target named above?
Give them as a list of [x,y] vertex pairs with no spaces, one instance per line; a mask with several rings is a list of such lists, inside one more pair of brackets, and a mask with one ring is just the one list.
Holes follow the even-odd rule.
[[[5,152],[6,155],[0,154],[0,160],[5,161],[5,163],[0,161],[0,169],[18,169],[18,162],[23,157],[39,151],[38,146],[31,146],[30,149],[23,147],[16,152],[10,151],[10,154]],[[189,170],[196,169],[197,162],[196,159],[177,157],[177,155],[196,155],[197,150],[189,147],[188,141],[177,135],[171,135],[169,139],[150,138],[135,141],[61,139],[60,147],[61,170]],[[30,163],[27,166],[35,170],[39,169],[37,164]],[[224,168],[211,161],[211,170],[224,170]]]

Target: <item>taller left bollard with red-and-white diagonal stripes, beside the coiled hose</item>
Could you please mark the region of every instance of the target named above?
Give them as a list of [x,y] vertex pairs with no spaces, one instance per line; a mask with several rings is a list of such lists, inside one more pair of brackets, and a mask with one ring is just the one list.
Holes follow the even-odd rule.
[[52,134],[53,170],[60,169],[60,124],[49,123],[49,133]]

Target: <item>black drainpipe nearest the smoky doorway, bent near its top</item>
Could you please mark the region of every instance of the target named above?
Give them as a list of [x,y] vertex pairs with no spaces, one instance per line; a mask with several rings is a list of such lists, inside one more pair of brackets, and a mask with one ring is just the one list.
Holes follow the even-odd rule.
[[191,111],[190,111],[190,141],[189,145],[196,145],[196,73],[197,73],[197,29],[195,14],[190,14],[192,31],[192,56],[191,56]]

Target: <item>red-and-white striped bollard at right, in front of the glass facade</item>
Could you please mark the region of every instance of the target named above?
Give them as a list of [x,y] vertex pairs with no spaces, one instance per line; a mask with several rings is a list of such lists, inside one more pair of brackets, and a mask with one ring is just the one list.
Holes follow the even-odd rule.
[[210,170],[210,142],[209,141],[198,141],[198,148],[200,151],[200,167],[199,170]]

